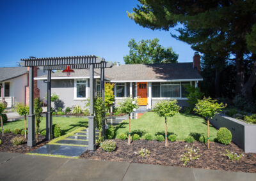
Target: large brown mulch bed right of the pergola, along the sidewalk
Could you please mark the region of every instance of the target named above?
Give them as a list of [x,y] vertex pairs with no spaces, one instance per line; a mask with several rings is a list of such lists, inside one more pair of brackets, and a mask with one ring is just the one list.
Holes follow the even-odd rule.
[[[184,141],[169,141],[169,147],[164,147],[164,141],[133,141],[127,145],[127,140],[115,140],[117,148],[114,152],[105,152],[102,148],[97,148],[95,152],[84,152],[80,157],[83,159],[96,159],[106,161],[127,161],[130,163],[160,164],[166,166],[181,166],[190,168],[204,168],[213,170],[226,171],[243,171],[256,173],[256,154],[244,154],[243,150],[234,143],[222,145],[211,142],[210,150],[204,143],[195,141],[194,143],[185,143]],[[194,145],[199,148],[198,154],[202,154],[198,160],[189,161],[186,166],[180,161],[180,155],[185,152],[185,145]],[[141,148],[150,151],[150,155],[142,157],[135,155]],[[225,150],[244,154],[239,161],[231,161],[228,157],[223,156]]]

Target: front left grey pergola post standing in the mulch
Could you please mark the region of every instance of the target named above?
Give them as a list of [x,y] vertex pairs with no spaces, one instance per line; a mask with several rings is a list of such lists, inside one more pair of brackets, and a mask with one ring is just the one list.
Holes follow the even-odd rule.
[[34,69],[29,67],[29,115],[28,115],[28,146],[36,145],[35,114],[34,114]]

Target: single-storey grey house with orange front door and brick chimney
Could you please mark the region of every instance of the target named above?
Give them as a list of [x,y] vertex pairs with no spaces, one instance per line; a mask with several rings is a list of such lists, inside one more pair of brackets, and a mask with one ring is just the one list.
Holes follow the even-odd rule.
[[[70,76],[57,71],[52,73],[52,93],[59,95],[65,107],[84,106],[89,97],[89,70],[75,69]],[[100,69],[95,69],[95,91],[100,89]],[[47,80],[46,76],[35,80]],[[177,99],[180,106],[189,106],[185,98],[184,85],[198,85],[200,55],[195,54],[193,62],[173,64],[127,64],[105,69],[105,81],[115,83],[115,102],[132,96],[138,98],[138,105],[151,109],[157,101]]]

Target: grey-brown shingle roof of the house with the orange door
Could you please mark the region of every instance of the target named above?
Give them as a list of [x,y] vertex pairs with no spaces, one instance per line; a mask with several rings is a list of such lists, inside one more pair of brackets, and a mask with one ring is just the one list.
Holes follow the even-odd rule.
[[[69,78],[83,78],[89,76],[88,69],[75,69]],[[95,76],[100,75],[100,69],[95,69]],[[52,79],[67,78],[66,73],[60,71],[52,73]],[[105,77],[111,82],[136,82],[138,80],[202,80],[202,76],[196,68],[193,68],[193,62],[172,63],[172,64],[126,64],[113,66],[105,69]],[[40,76],[36,79],[45,79],[46,76]]]

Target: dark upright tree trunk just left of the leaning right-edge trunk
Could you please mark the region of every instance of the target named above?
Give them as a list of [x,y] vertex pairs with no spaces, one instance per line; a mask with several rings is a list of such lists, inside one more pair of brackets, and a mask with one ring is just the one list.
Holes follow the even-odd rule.
[[243,52],[236,52],[236,94],[241,94],[244,87]]

